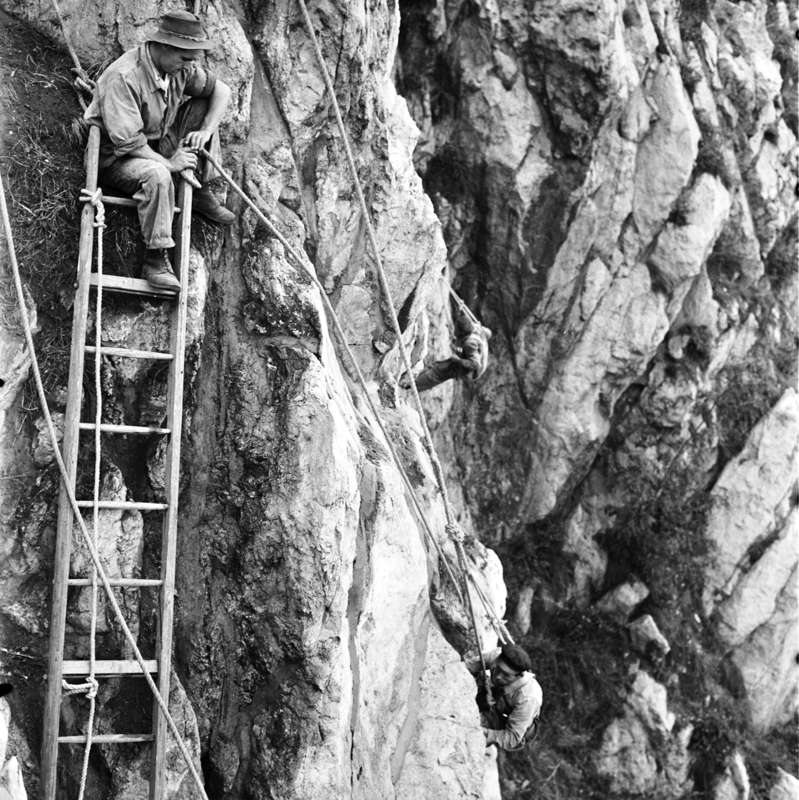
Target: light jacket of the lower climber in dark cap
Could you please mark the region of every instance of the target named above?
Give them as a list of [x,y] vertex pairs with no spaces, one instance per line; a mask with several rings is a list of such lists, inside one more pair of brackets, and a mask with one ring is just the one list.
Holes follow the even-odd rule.
[[[483,654],[485,666],[492,674],[496,669],[501,649],[487,650]],[[480,673],[480,658],[468,658],[466,668],[474,675]],[[532,672],[524,672],[506,686],[493,686],[493,710],[480,714],[485,730],[486,744],[495,744],[503,750],[516,750],[524,746],[525,734],[541,713],[543,694]]]

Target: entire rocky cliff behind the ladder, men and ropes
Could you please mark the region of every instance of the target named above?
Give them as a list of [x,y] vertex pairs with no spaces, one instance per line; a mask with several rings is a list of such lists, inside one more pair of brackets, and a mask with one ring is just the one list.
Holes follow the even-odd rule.
[[[178,7],[62,5],[86,65]],[[14,73],[43,73],[14,36],[61,38],[50,11],[2,6],[22,21],[3,34],[16,65],[6,118],[22,131],[30,99]],[[219,42],[208,65],[234,91],[226,166],[313,262],[445,544],[298,7],[198,6]],[[793,770],[773,737],[796,714],[797,682],[795,8],[337,0],[311,14],[415,369],[449,351],[442,270],[495,334],[481,382],[425,403],[461,523],[503,562],[470,545],[485,590],[504,610],[504,566],[514,634],[544,687],[549,724],[535,750],[500,758],[503,796],[745,798],[747,764],[755,792],[773,794],[777,762]],[[66,93],[59,81],[34,103]],[[74,194],[79,152],[62,153]],[[132,271],[135,228],[120,224],[114,266]],[[210,797],[496,797],[458,653],[472,644],[465,618],[317,290],[249,211],[229,234],[195,224],[193,243],[172,702]],[[54,288],[28,267],[56,351],[70,263],[53,267]],[[58,314],[47,291],[66,298]],[[103,339],[158,349],[162,314],[118,303]],[[57,481],[20,393],[18,331],[2,334],[4,475],[36,482],[11,484],[0,520],[9,753],[34,793]],[[50,375],[58,410],[63,369]],[[109,358],[103,380],[109,421],[160,418],[154,365]],[[158,442],[112,444],[103,492],[158,501],[162,462]],[[104,513],[114,574],[156,574],[158,523]],[[85,562],[76,542],[75,574]],[[152,646],[152,598],[124,599]],[[70,601],[75,657],[87,602]],[[100,637],[121,652],[108,614]],[[101,730],[146,730],[146,688],[103,692]],[[82,730],[85,714],[66,702],[62,729]],[[62,753],[65,797],[80,758]],[[147,764],[145,748],[103,747],[90,786],[142,796]],[[170,764],[173,796],[192,797],[177,754]]]

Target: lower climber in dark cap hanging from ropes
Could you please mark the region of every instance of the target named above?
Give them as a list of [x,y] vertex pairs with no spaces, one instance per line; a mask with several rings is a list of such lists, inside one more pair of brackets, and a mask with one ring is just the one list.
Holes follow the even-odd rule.
[[[541,686],[533,674],[529,655],[518,645],[506,644],[483,654],[493,684],[493,709],[485,702],[485,690],[477,693],[480,722],[485,743],[503,750],[521,750],[525,737],[533,730],[541,711]],[[480,658],[469,658],[465,665],[474,675],[480,674]]]

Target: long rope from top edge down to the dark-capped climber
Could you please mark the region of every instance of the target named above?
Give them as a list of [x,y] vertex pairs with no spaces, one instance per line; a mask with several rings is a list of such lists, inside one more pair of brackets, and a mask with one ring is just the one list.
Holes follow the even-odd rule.
[[[380,278],[380,285],[382,286],[383,290],[383,297],[386,300],[386,306],[388,307],[388,310],[390,312],[391,324],[394,326],[394,332],[397,334],[397,343],[399,346],[400,354],[402,356],[402,362],[405,364],[405,371],[408,373],[409,377],[412,377],[413,370],[411,369],[410,357],[408,355],[408,350],[405,347],[405,341],[402,338],[402,330],[399,324],[399,319],[397,317],[396,306],[394,305],[394,299],[391,296],[391,290],[389,288],[388,278],[386,277],[386,270],[383,269],[382,259],[380,258],[380,246],[378,245],[378,238],[374,232],[374,226],[372,225],[372,219],[369,214],[369,209],[366,207],[366,199],[364,198],[363,195],[361,180],[360,178],[358,178],[358,168],[355,166],[355,159],[353,158],[352,150],[350,149],[350,138],[347,136],[347,131],[344,126],[344,120],[342,119],[342,112],[341,109],[338,107],[338,99],[336,98],[336,90],[333,86],[333,80],[330,78],[330,71],[327,69],[325,57],[322,54],[322,48],[319,46],[319,41],[316,36],[316,32],[314,31],[314,23],[311,22],[306,2],[305,0],[298,0],[298,3],[300,9],[302,10],[302,17],[305,20],[306,28],[308,30],[308,35],[310,37],[311,42],[313,42],[314,44],[314,53],[316,54],[316,60],[319,65],[319,69],[322,71],[322,77],[325,79],[325,86],[327,87],[327,91],[330,94],[330,102],[333,106],[339,133],[342,135],[342,144],[344,145],[344,152],[347,157],[347,162],[350,165],[350,171],[352,173],[353,183],[355,187],[355,194],[358,197],[358,205],[361,206],[361,214],[364,224],[366,225],[366,233],[368,234],[370,243],[372,245],[374,264],[377,267],[378,277]],[[438,490],[441,492],[441,498],[444,501],[444,513],[446,514],[447,525],[448,526],[457,525],[452,505],[449,502],[449,493],[447,492],[446,488],[444,470],[441,467],[441,462],[438,460],[438,455],[436,453],[435,446],[433,445],[433,437],[430,434],[430,429],[427,425],[425,410],[424,407],[421,405],[421,398],[419,397],[419,392],[416,388],[416,382],[413,381],[413,379],[411,379],[410,381],[410,390],[413,393],[413,402],[415,403],[417,410],[419,412],[421,430],[424,433],[424,438],[425,438],[425,448],[429,454],[430,462],[433,464],[433,470],[436,473],[436,478],[438,482]],[[462,562],[465,559],[465,556],[463,554],[463,545],[460,542],[456,542],[455,546],[456,549],[458,550],[458,558]],[[466,594],[469,601],[469,611],[472,617],[474,638],[477,642],[477,652],[480,654],[481,667],[483,670],[483,674],[485,675],[485,658],[483,658],[483,650],[480,640],[480,631],[477,629],[477,621],[476,618],[474,617],[471,596],[469,595],[468,589],[469,587],[467,582]],[[487,690],[489,702],[493,702],[489,680],[486,680],[485,688]]]

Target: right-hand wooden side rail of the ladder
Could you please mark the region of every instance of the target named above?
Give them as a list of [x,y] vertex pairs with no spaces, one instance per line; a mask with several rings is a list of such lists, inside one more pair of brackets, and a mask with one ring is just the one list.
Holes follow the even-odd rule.
[[[167,381],[166,427],[171,430],[166,446],[164,488],[169,508],[164,512],[161,546],[161,620],[158,635],[158,691],[169,704],[172,671],[172,625],[174,618],[175,558],[178,550],[178,493],[180,490],[180,439],[183,422],[183,375],[186,361],[186,314],[189,301],[189,248],[191,240],[192,188],[181,180],[178,204],[182,214],[175,234],[176,272],[180,294],[172,309],[170,326],[170,374]],[[155,742],[150,766],[150,800],[166,797],[166,738],[169,727],[157,703],[153,708]]]

